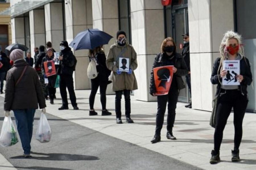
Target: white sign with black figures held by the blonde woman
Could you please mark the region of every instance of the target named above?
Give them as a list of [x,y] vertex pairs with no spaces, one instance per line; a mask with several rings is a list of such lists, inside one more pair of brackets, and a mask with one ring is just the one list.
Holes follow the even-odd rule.
[[236,77],[240,74],[240,60],[224,60],[223,69],[227,74],[222,78],[222,85],[240,85]]

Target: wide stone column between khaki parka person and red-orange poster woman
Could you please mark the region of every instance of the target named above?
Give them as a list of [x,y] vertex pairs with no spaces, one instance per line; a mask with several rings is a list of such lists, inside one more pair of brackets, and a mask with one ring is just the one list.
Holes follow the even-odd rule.
[[138,90],[135,98],[153,101],[149,94],[150,72],[155,56],[164,40],[163,6],[160,1],[131,0],[131,35],[137,52],[138,68],[135,75]]

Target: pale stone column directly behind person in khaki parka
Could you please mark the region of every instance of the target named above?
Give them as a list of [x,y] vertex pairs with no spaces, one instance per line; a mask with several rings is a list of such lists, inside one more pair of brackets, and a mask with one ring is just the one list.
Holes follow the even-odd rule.
[[[98,28],[101,31],[109,33],[113,39],[109,41],[108,45],[104,45],[106,56],[109,48],[116,41],[118,25],[118,1],[116,0],[94,0],[92,1],[93,11],[93,28]],[[112,91],[112,84],[109,84],[106,94],[114,94]]]

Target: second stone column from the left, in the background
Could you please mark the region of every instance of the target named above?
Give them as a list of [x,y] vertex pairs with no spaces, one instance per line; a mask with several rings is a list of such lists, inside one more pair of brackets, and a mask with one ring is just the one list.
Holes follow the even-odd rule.
[[35,9],[30,15],[30,49],[34,56],[34,48],[40,45],[46,46],[46,28],[44,26],[44,9]]

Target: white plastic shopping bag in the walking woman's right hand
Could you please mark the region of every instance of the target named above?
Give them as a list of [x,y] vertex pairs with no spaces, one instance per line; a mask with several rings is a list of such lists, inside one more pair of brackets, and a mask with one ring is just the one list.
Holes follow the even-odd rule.
[[38,121],[38,130],[36,130],[36,139],[39,142],[45,143],[51,141],[52,131],[49,126],[46,115],[42,112]]

